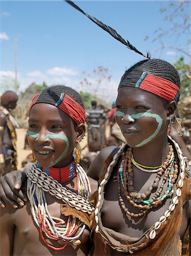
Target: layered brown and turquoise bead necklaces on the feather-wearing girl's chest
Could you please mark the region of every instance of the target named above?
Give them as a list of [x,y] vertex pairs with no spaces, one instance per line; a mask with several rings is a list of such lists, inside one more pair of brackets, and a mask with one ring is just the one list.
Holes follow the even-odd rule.
[[[173,153],[173,148],[169,145],[169,153],[164,163],[158,167],[147,167],[135,162],[132,156],[132,148],[128,148],[126,154],[122,154],[122,159],[120,163],[120,167],[118,168],[118,200],[121,208],[124,210],[126,215],[131,217],[142,217],[146,214],[146,212],[153,207],[156,208],[163,201],[172,196],[172,187],[177,178],[178,166],[177,160],[175,160],[175,156]],[[136,163],[135,166],[139,167],[139,170],[145,168],[146,172],[155,173],[157,170],[157,175],[154,179],[154,183],[148,186],[145,193],[139,193],[135,191],[133,187],[133,170],[132,163]],[[141,167],[141,169],[140,169]],[[143,171],[145,171],[143,170]],[[159,181],[162,179],[162,183],[159,186]],[[121,185],[120,185],[121,181]],[[164,184],[168,181],[167,189],[164,192],[163,196],[160,196],[163,192]],[[122,186],[122,189],[121,189]],[[121,190],[123,191],[124,196],[129,201],[133,207],[141,209],[140,213],[131,213],[128,208],[125,207],[124,200],[121,196]],[[153,191],[156,191],[154,196],[151,199],[148,199]]]

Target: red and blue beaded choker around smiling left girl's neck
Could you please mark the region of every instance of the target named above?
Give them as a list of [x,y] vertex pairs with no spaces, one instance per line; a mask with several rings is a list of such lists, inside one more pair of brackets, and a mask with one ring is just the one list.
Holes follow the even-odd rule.
[[40,164],[38,167],[49,176],[52,176],[53,179],[57,180],[59,183],[65,183],[76,176],[74,158],[72,162],[65,167],[41,167]]

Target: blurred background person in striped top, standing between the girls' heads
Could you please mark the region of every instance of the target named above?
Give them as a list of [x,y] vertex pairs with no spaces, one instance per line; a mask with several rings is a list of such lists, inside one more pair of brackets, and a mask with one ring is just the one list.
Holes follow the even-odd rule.
[[97,149],[101,150],[101,126],[106,121],[105,113],[103,109],[97,108],[97,101],[91,102],[92,108],[86,110],[86,123],[88,125],[88,150],[95,152],[95,148],[91,145],[92,143],[97,144]]

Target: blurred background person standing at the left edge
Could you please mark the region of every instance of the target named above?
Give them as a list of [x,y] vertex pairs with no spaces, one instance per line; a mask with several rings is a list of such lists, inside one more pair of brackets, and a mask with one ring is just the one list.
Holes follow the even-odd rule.
[[18,96],[7,90],[2,94],[0,106],[0,176],[16,170],[16,128],[19,127],[10,114],[16,108]]

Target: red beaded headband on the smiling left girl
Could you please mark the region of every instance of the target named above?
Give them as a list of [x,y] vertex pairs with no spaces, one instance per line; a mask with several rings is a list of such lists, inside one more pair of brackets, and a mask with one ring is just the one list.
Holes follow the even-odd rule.
[[[36,103],[37,99],[39,98],[40,93],[41,92],[37,93],[35,97],[33,97],[31,102],[30,112],[31,112],[32,106]],[[48,103],[48,102],[42,101],[41,103]],[[83,107],[78,102],[73,100],[73,98],[71,98],[68,94],[61,93],[59,100],[56,102],[54,106],[57,106],[63,112],[68,114],[78,124],[84,123],[86,120],[86,113]]]

